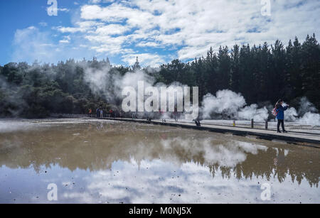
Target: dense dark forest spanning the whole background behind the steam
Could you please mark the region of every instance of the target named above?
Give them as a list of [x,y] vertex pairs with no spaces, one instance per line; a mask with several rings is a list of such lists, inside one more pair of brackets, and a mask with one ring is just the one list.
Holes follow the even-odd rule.
[[[110,80],[103,92],[90,86],[88,68],[107,69]],[[277,40],[273,45],[220,47],[217,53],[210,48],[206,57],[192,62],[172,60],[150,69],[140,67],[139,62],[130,67],[112,66],[108,59],[96,58],[56,65],[10,62],[0,66],[0,116],[33,118],[52,113],[87,114],[88,109],[97,107],[117,109],[119,99],[107,97],[112,80],[136,70],[154,77],[154,83],[198,86],[200,101],[208,93],[230,89],[240,92],[248,104],[274,104],[282,97],[294,106],[300,97],[307,97],[320,109],[320,45],[314,35],[303,43],[295,38],[287,45]]]

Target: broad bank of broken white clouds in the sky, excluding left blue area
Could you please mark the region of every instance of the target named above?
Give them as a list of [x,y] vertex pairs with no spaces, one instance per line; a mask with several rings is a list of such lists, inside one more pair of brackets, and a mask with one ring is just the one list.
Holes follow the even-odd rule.
[[80,44],[85,40],[92,53],[120,55],[127,63],[136,55],[147,59],[161,48],[163,54],[155,54],[151,65],[169,61],[170,55],[193,59],[205,55],[210,46],[218,50],[220,45],[319,36],[320,1],[270,2],[271,14],[263,16],[257,0],[90,0],[79,4],[71,26],[53,29],[82,38]]

